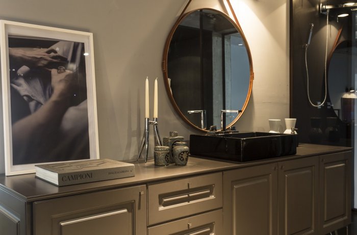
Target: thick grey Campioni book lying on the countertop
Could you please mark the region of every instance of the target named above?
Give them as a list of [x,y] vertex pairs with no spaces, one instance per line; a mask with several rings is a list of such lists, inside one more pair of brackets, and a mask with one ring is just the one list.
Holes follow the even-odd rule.
[[35,169],[37,178],[56,186],[135,176],[134,164],[111,159],[41,164]]

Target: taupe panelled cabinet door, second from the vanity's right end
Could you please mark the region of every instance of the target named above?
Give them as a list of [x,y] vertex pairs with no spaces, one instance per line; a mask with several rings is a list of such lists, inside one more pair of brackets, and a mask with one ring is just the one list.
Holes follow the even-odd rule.
[[281,162],[278,167],[278,234],[318,234],[318,156]]

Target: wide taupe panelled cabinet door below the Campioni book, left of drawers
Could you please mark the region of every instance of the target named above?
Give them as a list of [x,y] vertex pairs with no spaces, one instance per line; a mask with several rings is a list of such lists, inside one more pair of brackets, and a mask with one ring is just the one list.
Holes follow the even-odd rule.
[[146,187],[35,202],[34,234],[146,234]]

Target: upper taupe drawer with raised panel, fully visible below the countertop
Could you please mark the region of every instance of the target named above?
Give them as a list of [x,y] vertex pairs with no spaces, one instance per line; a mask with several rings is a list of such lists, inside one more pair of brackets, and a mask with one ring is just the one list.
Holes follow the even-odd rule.
[[148,185],[148,224],[222,207],[222,173]]

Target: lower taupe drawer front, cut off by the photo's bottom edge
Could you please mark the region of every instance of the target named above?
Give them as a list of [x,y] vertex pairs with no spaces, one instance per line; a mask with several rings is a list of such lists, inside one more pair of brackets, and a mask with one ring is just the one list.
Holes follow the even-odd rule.
[[221,235],[222,210],[204,213],[148,228],[148,235]]

